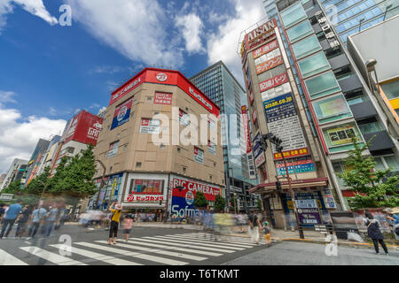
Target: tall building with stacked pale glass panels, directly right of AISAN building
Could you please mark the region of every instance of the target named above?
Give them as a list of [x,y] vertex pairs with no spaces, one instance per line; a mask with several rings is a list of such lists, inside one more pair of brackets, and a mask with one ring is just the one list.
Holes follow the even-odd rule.
[[274,4],[279,31],[286,38],[290,65],[296,72],[295,81],[308,105],[308,118],[316,129],[328,171],[332,172],[331,184],[339,193],[343,209],[348,209],[347,197],[353,193],[336,172],[350,169],[344,165],[353,147],[349,135],[355,134],[358,142],[369,142],[375,135],[366,154],[374,157],[377,168],[386,167],[388,157],[394,171],[399,160],[398,143],[387,130],[386,113],[318,2],[280,0]]

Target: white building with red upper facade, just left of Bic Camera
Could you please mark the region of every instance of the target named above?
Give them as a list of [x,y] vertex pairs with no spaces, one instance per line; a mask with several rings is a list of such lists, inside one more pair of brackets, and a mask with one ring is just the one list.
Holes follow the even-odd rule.
[[96,146],[102,124],[102,118],[84,110],[70,119],[66,123],[60,141],[55,142],[51,147],[56,152],[55,155],[51,154],[48,163],[51,164],[51,174],[55,174],[62,157],[68,159],[74,157],[87,149],[90,143]]

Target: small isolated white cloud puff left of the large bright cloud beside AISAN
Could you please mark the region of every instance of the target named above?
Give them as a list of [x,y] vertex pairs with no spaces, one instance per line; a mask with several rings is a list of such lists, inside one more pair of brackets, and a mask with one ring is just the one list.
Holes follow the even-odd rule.
[[199,16],[190,13],[184,16],[176,16],[176,27],[183,33],[185,50],[189,53],[204,51],[200,35],[203,34],[204,24]]

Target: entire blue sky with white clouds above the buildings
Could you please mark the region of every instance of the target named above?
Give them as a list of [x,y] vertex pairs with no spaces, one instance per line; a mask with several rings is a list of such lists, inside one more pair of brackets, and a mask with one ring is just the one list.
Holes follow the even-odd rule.
[[0,172],[145,66],[190,77],[222,59],[242,82],[239,34],[265,17],[262,0],[0,2]]

